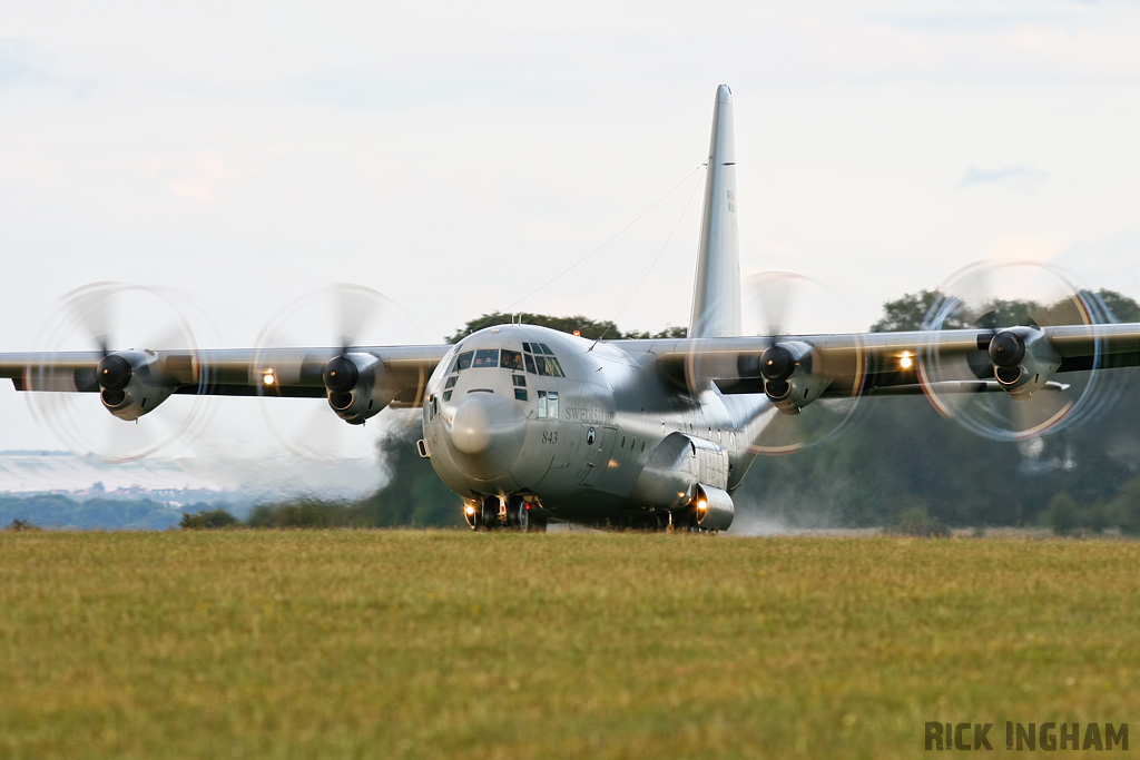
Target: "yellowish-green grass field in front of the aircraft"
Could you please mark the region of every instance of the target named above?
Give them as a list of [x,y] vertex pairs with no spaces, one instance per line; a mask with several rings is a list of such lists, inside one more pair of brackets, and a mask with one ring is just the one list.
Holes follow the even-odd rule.
[[928,720],[993,722],[988,757],[1005,720],[1130,722],[1134,752],[1138,570],[1124,541],[0,533],[0,757],[914,758]]

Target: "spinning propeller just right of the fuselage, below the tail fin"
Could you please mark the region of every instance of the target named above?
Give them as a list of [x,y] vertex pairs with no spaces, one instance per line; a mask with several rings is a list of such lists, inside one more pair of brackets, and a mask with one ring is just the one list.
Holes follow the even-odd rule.
[[[825,443],[850,423],[863,387],[865,362],[860,344],[842,359],[825,366],[811,351],[811,335],[821,334],[847,312],[842,300],[819,280],[793,272],[762,272],[743,284],[746,332],[766,338],[758,358],[765,393],[775,412],[750,448],[757,453],[782,455]],[[812,398],[798,406],[793,384],[812,378],[820,390],[832,386],[841,395]],[[834,384],[829,378],[837,378]]]

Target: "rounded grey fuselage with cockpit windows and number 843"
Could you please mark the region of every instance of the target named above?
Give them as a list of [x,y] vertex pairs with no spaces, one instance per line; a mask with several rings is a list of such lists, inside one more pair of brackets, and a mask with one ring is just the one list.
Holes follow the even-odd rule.
[[682,508],[698,483],[735,489],[767,399],[683,393],[657,366],[670,341],[619,345],[530,325],[464,338],[424,397],[435,472],[469,501],[534,495],[552,516],[588,522]]

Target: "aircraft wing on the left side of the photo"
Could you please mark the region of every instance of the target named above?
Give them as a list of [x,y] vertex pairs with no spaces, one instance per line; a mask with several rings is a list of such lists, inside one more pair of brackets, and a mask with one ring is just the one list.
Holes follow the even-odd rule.
[[[423,389],[435,366],[451,346],[357,346],[351,353],[382,362],[389,406],[420,406]],[[171,386],[173,393],[206,395],[267,395],[315,398],[327,395],[321,373],[328,361],[344,352],[339,348],[222,349],[209,351],[130,351],[128,357],[146,374]],[[100,391],[97,368],[101,352],[0,353],[0,378],[11,379],[18,391]]]

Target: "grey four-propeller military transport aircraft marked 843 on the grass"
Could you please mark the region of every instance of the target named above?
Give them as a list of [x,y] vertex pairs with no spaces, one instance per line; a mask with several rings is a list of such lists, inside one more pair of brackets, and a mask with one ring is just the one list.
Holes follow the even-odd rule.
[[98,394],[122,420],[172,394],[320,398],[352,425],[386,407],[421,408],[420,453],[462,497],[472,529],[559,520],[718,531],[732,524],[732,493],[755,457],[799,448],[813,406],[925,393],[948,415],[956,399],[1002,398],[1016,423],[1008,438],[1021,440],[1073,412],[1056,376],[1140,365],[1140,325],[1102,324],[1105,310],[1075,291],[1047,326],[1002,325],[996,311],[963,311],[947,296],[920,332],[743,336],[726,85],[707,166],[685,338],[589,341],[511,324],[455,345],[345,337],[327,348],[152,351],[104,340],[89,352],[0,353],[0,377],[19,391]]

